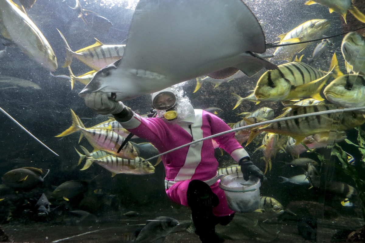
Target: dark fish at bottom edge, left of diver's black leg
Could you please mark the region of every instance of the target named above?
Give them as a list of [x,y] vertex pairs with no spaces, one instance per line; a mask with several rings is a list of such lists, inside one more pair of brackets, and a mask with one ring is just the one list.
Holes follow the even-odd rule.
[[136,243],[162,243],[177,226],[176,219],[160,216],[150,220],[139,232],[133,242]]

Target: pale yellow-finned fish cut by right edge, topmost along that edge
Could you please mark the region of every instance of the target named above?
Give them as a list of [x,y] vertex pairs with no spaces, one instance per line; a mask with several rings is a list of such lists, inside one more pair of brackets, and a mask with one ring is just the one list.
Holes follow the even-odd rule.
[[350,32],[342,39],[341,51],[347,72],[365,74],[365,38]]

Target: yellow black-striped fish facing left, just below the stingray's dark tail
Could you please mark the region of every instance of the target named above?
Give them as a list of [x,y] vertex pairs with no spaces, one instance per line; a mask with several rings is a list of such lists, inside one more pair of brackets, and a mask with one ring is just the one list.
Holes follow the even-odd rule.
[[332,70],[335,70],[337,76],[342,74],[335,54],[327,74],[296,59],[279,65],[278,69],[266,71],[257,81],[254,94],[261,101],[285,101],[303,97],[323,100],[319,92]]

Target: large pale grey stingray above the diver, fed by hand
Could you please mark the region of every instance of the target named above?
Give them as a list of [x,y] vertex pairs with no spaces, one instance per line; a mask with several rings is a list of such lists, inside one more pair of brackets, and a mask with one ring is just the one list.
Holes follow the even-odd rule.
[[208,75],[253,76],[277,66],[257,53],[265,35],[242,0],[140,0],[123,58],[100,69],[79,93],[114,93],[116,101]]

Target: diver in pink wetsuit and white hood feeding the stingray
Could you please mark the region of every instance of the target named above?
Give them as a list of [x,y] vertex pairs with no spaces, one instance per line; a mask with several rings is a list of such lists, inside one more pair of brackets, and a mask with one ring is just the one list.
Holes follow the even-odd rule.
[[[152,95],[156,117],[144,118],[107,93],[85,95],[85,104],[93,111],[112,114],[132,134],[152,143],[160,153],[231,128],[219,117],[194,109],[182,90],[174,87]],[[245,180],[250,175],[263,181],[262,171],[251,161],[246,150],[234,138],[234,132],[213,138],[220,148],[238,162]],[[224,191],[219,188],[218,161],[210,139],[162,155],[165,189],[170,200],[191,207],[192,219],[203,243],[223,242],[215,234],[216,224],[227,225],[234,216]]]

